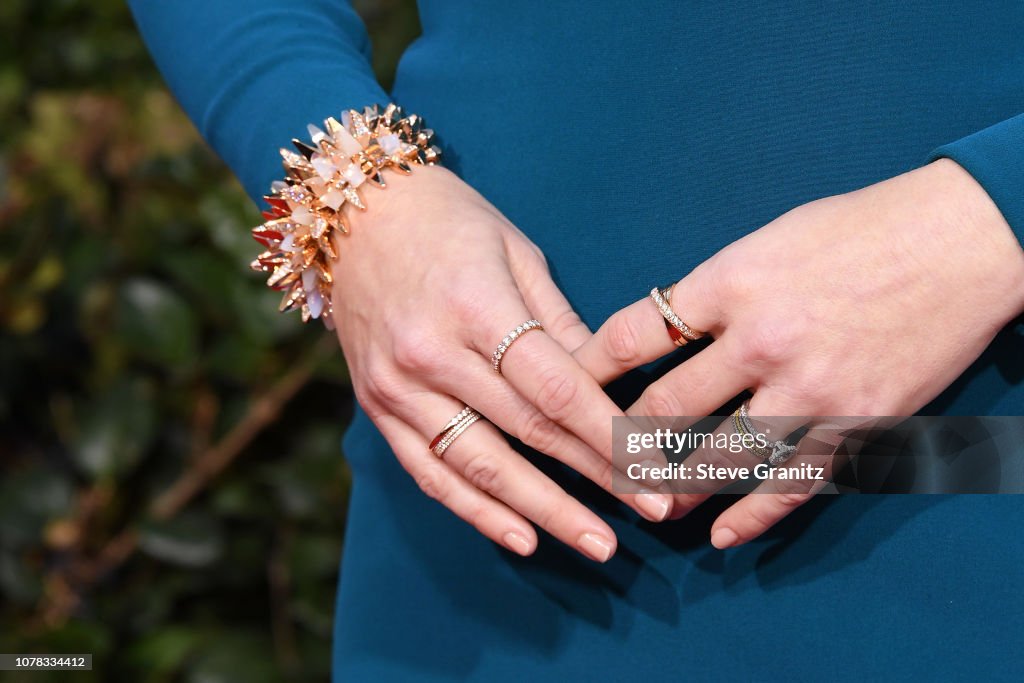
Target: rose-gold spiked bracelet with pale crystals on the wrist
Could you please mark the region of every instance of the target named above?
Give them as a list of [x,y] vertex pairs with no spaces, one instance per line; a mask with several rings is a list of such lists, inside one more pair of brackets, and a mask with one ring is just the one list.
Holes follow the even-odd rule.
[[252,233],[266,251],[252,268],[270,273],[267,286],[285,292],[282,311],[299,309],[304,323],[318,317],[331,330],[331,262],[338,257],[336,236],[348,232],[346,208],[366,211],[360,185],[384,187],[385,170],[408,175],[412,164],[436,163],[440,150],[423,120],[395,104],[349,110],[341,122],[324,124],[326,131],[309,126],[312,144],[295,139],[297,153],[281,151],[287,175],[263,198],[270,205],[266,222]]

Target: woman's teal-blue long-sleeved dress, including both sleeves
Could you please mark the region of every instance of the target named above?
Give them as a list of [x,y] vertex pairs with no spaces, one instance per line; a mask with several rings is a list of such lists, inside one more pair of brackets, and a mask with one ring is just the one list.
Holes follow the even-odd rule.
[[[1019,0],[422,0],[391,93],[340,0],[132,7],[254,199],[306,123],[393,99],[545,251],[592,328],[784,211],[934,156],[1024,236]],[[1009,326],[925,412],[1021,415],[1021,337]],[[612,393],[629,401],[664,371]],[[709,526],[728,501],[649,524],[545,464],[618,535],[595,565],[550,538],[525,559],[484,540],[420,493],[361,412],[343,447],[338,680],[1017,677],[1019,497],[821,498],[719,552]]]

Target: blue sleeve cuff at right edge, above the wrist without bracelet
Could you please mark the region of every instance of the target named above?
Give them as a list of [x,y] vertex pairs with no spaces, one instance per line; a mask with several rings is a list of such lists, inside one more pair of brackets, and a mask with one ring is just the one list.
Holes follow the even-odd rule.
[[985,188],[1024,245],[1024,114],[934,151],[952,159]]

